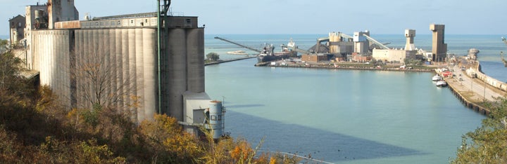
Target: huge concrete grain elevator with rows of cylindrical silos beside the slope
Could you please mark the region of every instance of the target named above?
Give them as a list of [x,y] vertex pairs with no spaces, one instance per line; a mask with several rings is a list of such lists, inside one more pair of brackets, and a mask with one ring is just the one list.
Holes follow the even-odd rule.
[[115,107],[136,123],[168,114],[189,131],[208,121],[223,132],[221,102],[205,93],[204,27],[168,15],[169,5],[86,20],[73,0],[27,6],[27,68],[69,108]]

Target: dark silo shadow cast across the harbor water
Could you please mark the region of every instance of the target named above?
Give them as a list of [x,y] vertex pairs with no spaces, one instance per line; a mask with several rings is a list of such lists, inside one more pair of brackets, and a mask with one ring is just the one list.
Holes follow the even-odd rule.
[[256,146],[265,137],[261,150],[300,156],[310,154],[312,158],[328,162],[427,154],[302,125],[271,121],[237,111],[227,111],[225,128],[233,137],[248,139],[252,146]]

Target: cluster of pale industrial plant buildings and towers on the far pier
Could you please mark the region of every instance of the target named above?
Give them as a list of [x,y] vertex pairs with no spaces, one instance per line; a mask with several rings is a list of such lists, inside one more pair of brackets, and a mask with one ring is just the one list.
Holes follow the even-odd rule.
[[[422,60],[427,58],[430,61],[444,61],[446,57],[446,43],[444,43],[444,25],[430,25],[433,31],[433,50],[427,53],[424,50],[415,48],[415,29],[406,29],[405,48],[388,48],[387,43],[380,43],[372,37],[370,32],[354,32],[353,36],[341,32],[330,32],[329,37],[317,39],[315,46],[309,50],[301,50],[291,47],[304,55],[301,60],[304,62],[318,62],[326,60],[323,55],[341,61],[345,57],[351,62],[365,62],[370,59],[381,60],[382,62],[403,63],[406,59]],[[327,43],[325,43],[327,42]],[[320,55],[320,56],[318,56]],[[332,57],[334,55],[334,57]]]

